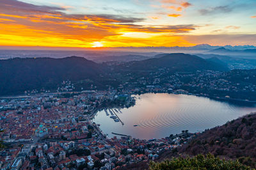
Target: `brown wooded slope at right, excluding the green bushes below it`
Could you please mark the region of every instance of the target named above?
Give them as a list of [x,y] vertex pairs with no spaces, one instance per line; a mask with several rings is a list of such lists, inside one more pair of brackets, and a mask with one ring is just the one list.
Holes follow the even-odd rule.
[[238,159],[242,164],[256,167],[256,114],[232,120],[221,127],[205,130],[179,153],[198,155],[212,153],[230,159]]

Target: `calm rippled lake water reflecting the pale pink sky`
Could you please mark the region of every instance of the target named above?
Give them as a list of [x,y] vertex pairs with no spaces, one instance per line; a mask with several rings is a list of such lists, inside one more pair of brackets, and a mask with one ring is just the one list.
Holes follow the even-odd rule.
[[108,137],[115,136],[112,134],[115,132],[138,139],[160,139],[179,134],[182,130],[198,132],[223,125],[256,111],[256,107],[241,107],[193,95],[146,93],[134,97],[136,105],[133,107],[120,109],[122,113],[113,109],[124,125],[115,122],[105,111],[97,112],[93,121],[100,124],[100,129]]

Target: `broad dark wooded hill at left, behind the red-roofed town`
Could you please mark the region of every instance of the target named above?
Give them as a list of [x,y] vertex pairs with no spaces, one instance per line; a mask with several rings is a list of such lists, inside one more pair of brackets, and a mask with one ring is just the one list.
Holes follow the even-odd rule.
[[90,80],[105,88],[107,72],[105,66],[79,57],[4,59],[0,60],[0,95],[20,94],[27,89],[56,89],[65,80]]

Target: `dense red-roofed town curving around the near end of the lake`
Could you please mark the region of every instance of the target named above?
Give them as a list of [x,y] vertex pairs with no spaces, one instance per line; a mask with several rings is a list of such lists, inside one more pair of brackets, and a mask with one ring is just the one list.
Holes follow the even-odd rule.
[[[0,152],[1,169],[118,169],[154,160],[194,135],[184,130],[163,139],[109,139],[92,118],[104,102],[115,98],[115,90],[72,93],[68,98],[61,93],[2,98],[1,139],[6,148]],[[118,107],[128,107],[127,100],[132,100],[129,95]]]

